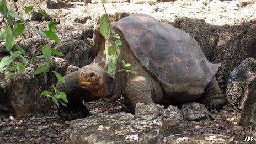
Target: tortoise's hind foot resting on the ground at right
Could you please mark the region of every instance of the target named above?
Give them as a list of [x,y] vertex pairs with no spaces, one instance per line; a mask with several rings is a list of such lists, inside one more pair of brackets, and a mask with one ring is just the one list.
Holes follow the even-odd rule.
[[210,100],[205,104],[205,106],[206,106],[209,110],[213,110],[213,109],[220,110],[220,109],[222,109],[223,106],[225,106],[225,104],[226,104],[226,99],[225,99],[224,94],[223,94],[223,97],[224,97],[224,98],[212,98],[212,99],[210,99]]

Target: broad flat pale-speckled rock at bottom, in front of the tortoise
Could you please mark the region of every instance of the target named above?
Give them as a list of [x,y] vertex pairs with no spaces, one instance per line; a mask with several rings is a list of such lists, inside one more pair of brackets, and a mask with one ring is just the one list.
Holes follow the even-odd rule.
[[[104,126],[98,131],[99,126]],[[70,143],[159,143],[161,121],[127,113],[99,113],[71,121]]]

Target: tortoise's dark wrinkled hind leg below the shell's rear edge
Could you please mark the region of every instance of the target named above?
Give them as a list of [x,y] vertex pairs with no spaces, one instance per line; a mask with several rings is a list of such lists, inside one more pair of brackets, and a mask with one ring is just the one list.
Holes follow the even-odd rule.
[[212,77],[211,82],[206,86],[203,95],[204,104],[209,110],[220,110],[226,104],[226,95],[221,93],[215,77]]

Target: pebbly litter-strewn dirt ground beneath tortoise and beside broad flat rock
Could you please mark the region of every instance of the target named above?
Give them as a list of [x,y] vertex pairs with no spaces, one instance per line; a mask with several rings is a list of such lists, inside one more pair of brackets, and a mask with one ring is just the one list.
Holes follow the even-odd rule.
[[[85,104],[90,113],[118,113],[126,111],[123,100],[105,103],[101,100]],[[211,111],[208,118],[185,121],[182,134],[164,137],[162,143],[243,143],[244,136],[255,136],[253,127],[238,126],[240,111],[226,105]],[[57,116],[57,110],[24,118],[3,117],[0,121],[0,143],[66,143],[70,122]]]

